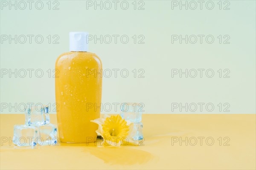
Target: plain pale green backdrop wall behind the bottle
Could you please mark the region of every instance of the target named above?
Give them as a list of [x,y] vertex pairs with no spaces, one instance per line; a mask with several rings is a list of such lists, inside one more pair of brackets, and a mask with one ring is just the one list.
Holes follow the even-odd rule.
[[[107,77],[109,73],[103,76],[102,104],[110,103],[112,110],[102,113],[119,112],[119,108],[114,111],[113,103],[122,102],[143,103],[144,113],[256,111],[254,0],[203,1],[201,7],[198,1],[116,1],[116,9],[113,1],[33,1],[31,9],[27,1],[23,2],[1,1],[1,113],[22,113],[21,104],[27,102],[54,106],[52,71],[56,58],[69,51],[70,31],[88,31],[98,38],[102,35],[102,43],[89,41],[89,51],[102,59],[104,69],[128,70],[127,78],[120,71],[114,77],[113,70],[112,77]],[[40,10],[41,4],[44,6]],[[9,35],[14,38],[11,42]],[[34,36],[31,43],[28,35]],[[41,44],[35,41],[37,35],[38,42],[44,38]],[[119,36],[116,43],[113,35]],[[188,35],[187,44],[186,40],[174,40],[180,35]],[[202,35],[202,42],[198,35]],[[125,37],[129,38],[126,44]],[[193,44],[195,37],[197,42]],[[15,69],[17,77],[9,74]],[[20,69],[26,71],[24,78]],[[31,77],[27,69],[34,69]],[[41,72],[35,75],[37,69],[43,71],[41,78]],[[180,69],[188,69],[187,78],[185,74],[181,78],[180,74],[172,75]],[[194,69],[198,74],[195,78]],[[202,77],[198,69],[205,69]],[[212,71],[214,76],[209,78]]]

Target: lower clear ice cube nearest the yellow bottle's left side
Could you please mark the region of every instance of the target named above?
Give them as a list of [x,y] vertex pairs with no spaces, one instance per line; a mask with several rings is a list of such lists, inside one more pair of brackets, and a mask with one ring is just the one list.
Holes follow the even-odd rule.
[[38,145],[54,145],[57,143],[57,127],[51,123],[43,126],[38,126],[40,137],[36,143]]

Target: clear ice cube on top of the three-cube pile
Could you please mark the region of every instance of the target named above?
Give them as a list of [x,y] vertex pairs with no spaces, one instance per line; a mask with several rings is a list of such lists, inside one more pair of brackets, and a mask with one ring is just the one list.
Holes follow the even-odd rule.
[[25,110],[25,124],[27,126],[35,125],[42,126],[48,124],[50,121],[48,106],[29,105]]

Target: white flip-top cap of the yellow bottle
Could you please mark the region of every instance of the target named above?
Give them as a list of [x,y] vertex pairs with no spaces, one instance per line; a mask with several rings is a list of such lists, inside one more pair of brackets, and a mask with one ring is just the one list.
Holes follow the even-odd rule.
[[87,32],[70,32],[70,51],[88,51],[87,38]]

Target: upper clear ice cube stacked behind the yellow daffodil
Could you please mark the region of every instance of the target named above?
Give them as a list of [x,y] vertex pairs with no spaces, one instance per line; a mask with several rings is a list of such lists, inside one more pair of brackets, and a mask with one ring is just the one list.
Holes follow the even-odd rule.
[[143,105],[138,103],[122,103],[120,116],[130,122],[138,123],[142,119]]

